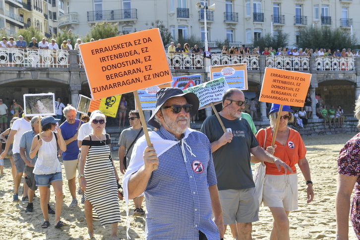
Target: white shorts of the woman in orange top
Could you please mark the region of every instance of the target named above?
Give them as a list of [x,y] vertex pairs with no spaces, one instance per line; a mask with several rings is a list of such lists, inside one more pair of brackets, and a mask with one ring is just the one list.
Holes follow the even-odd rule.
[[262,199],[267,207],[283,207],[285,211],[297,210],[298,175],[265,175]]

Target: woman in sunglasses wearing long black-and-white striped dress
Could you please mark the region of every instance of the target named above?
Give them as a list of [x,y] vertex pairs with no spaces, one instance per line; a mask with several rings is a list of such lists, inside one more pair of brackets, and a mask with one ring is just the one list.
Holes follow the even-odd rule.
[[91,134],[82,141],[79,163],[80,187],[85,191],[85,219],[88,238],[94,236],[93,219],[101,225],[111,224],[112,240],[119,240],[118,223],[120,206],[118,201],[119,176],[112,162],[110,136],[103,133],[106,118],[96,113],[90,118]]

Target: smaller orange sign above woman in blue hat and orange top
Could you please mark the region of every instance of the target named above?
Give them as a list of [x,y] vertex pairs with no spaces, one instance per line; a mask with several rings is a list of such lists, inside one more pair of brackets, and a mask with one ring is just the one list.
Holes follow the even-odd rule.
[[303,107],[310,80],[310,73],[267,67],[259,101]]

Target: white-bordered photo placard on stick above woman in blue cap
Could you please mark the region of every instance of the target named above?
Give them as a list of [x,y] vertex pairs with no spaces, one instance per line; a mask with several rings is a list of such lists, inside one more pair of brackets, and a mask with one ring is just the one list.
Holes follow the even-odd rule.
[[[39,116],[40,122],[41,116],[54,115],[56,115],[54,93],[24,94],[24,116]],[[39,124],[39,137],[41,138],[41,124]]]

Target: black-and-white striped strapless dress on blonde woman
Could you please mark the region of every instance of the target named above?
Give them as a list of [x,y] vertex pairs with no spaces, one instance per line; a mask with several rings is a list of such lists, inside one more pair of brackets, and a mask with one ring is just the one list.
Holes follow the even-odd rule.
[[90,146],[85,162],[85,198],[93,206],[93,219],[101,225],[120,222],[118,185],[113,163],[110,161],[110,139],[105,141],[83,140],[82,145]]

